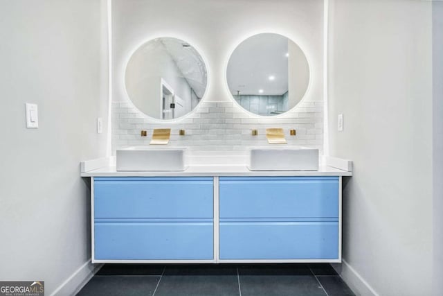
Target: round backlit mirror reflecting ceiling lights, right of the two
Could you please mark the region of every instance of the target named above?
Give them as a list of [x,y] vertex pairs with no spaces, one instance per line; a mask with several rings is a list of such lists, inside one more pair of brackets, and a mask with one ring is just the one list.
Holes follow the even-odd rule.
[[305,95],[309,64],[305,53],[287,37],[263,33],[237,46],[226,78],[230,93],[244,109],[277,115],[291,110]]

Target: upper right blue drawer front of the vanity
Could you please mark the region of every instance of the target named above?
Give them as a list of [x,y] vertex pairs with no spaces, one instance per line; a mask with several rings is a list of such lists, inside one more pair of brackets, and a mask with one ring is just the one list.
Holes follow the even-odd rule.
[[338,177],[220,177],[220,218],[337,218]]

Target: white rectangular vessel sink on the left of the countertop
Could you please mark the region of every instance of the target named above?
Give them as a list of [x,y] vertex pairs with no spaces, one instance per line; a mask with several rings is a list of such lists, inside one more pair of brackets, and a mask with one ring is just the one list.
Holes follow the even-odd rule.
[[187,148],[149,146],[117,149],[117,171],[185,171]]

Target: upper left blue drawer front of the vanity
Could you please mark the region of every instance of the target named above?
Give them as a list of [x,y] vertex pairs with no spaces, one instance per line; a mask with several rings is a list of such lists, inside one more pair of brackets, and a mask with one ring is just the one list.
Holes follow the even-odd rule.
[[212,177],[96,177],[96,218],[213,218]]

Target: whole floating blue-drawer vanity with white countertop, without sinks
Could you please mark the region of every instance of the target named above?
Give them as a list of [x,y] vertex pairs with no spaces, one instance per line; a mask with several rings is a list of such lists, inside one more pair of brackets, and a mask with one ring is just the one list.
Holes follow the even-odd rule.
[[92,261],[341,262],[341,180],[350,175],[324,165],[87,171]]

